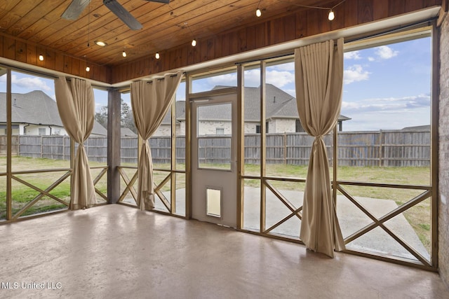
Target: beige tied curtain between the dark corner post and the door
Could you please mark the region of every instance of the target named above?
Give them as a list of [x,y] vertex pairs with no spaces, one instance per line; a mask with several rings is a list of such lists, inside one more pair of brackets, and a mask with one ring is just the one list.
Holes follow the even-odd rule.
[[145,141],[140,151],[138,165],[137,204],[141,210],[154,208],[153,163],[147,140],[166,116],[181,78],[182,71],[178,71],[175,75],[166,74],[163,79],[154,79],[152,82],[131,83],[131,107],[135,127],[139,136]]

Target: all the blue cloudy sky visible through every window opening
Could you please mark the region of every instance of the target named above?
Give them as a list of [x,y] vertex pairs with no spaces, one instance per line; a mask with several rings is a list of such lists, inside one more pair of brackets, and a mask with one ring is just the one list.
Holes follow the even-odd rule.
[[[260,85],[259,69],[246,71],[246,86]],[[13,72],[13,92],[43,90],[55,98],[51,79]],[[293,62],[267,67],[267,83],[295,97]],[[194,81],[194,92],[215,85],[236,85],[236,74]],[[177,99],[185,99],[185,84]],[[6,76],[0,77],[0,91],[6,92]],[[357,50],[344,54],[344,89],[341,114],[351,118],[344,131],[396,130],[430,123],[431,39],[416,39]],[[123,95],[130,102],[128,95]],[[107,105],[107,92],[95,90],[96,109]]]

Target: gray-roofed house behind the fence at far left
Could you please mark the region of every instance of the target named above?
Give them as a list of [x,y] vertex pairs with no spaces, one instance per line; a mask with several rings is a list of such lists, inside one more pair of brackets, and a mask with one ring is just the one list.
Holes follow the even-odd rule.
[[[62,125],[58,106],[41,90],[25,94],[13,93],[12,128],[13,135],[67,135]],[[0,107],[6,107],[6,93],[0,92]],[[0,135],[6,135],[6,109],[0,109]],[[94,122],[91,136],[106,136],[107,130]]]

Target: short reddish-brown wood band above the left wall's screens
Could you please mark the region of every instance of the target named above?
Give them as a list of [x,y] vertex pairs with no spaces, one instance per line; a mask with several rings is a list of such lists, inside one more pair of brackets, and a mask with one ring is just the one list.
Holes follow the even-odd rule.
[[[55,50],[27,43],[27,41],[14,36],[0,34],[0,45],[2,45],[0,47],[1,57],[95,81],[111,82],[110,67],[99,66]],[[39,60],[39,55],[43,55],[43,61]],[[91,68],[90,71],[86,71],[87,66]]]

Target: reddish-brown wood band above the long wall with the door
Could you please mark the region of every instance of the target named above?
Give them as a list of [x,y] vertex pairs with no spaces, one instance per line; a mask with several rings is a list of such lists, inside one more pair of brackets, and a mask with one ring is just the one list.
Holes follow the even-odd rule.
[[179,48],[161,51],[160,60],[156,60],[154,53],[149,53],[149,57],[114,66],[112,83],[382,20],[431,6],[441,6],[441,0],[347,0],[335,8],[336,18],[332,22],[328,21],[326,10],[297,11],[198,40],[195,48],[185,44]]

